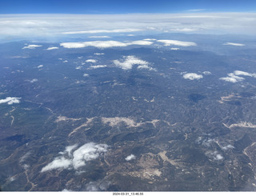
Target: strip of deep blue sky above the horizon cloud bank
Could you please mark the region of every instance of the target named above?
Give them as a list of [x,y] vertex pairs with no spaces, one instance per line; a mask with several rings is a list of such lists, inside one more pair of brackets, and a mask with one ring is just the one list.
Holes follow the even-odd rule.
[[0,14],[255,12],[255,0],[0,0]]

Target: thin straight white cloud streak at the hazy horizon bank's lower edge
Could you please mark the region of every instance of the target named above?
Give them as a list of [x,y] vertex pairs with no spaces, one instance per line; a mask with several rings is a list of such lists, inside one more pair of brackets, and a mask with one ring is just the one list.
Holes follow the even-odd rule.
[[121,29],[121,30],[80,30],[63,32],[62,34],[99,34],[99,33],[127,33],[141,31],[141,29]]

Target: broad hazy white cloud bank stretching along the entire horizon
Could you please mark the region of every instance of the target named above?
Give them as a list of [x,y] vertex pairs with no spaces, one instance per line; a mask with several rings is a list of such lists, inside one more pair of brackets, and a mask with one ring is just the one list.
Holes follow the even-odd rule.
[[146,30],[152,34],[194,30],[197,34],[254,35],[255,22],[255,13],[8,14],[0,17],[0,39],[60,40],[70,34],[145,34]]

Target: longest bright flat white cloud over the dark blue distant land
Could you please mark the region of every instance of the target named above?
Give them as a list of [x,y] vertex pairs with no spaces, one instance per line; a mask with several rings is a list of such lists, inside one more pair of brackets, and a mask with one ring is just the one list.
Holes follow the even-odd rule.
[[64,48],[84,48],[94,46],[97,48],[124,47],[130,45],[151,45],[153,42],[138,40],[134,42],[118,42],[118,41],[94,41],[94,42],[62,42],[60,46]]

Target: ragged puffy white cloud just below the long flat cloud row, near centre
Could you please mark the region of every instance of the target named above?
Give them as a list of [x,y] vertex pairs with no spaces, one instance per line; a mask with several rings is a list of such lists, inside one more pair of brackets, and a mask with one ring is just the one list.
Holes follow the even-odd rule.
[[124,59],[122,59],[121,62],[118,60],[114,60],[113,62],[114,65],[122,68],[122,70],[130,70],[134,65],[144,66],[145,68],[145,66],[148,66],[150,64],[149,62],[143,61],[134,56],[126,56],[124,57]]

